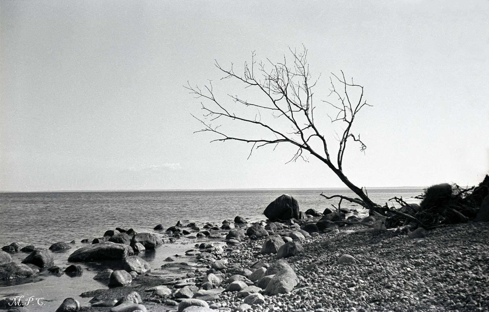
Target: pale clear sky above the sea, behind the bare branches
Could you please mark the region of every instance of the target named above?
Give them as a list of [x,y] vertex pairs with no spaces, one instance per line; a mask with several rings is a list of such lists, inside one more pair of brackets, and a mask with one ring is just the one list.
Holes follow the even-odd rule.
[[358,187],[471,186],[489,172],[488,0],[0,0],[0,10],[0,191],[344,187],[313,157],[287,163],[291,146],[248,159],[250,144],[194,133],[201,99],[184,85],[210,80],[231,106],[227,94],[261,101],[215,62],[241,70],[252,51],[280,62],[303,45],[320,77],[315,103],[343,70],[372,105],[353,128],[365,154],[350,144],[343,165]]

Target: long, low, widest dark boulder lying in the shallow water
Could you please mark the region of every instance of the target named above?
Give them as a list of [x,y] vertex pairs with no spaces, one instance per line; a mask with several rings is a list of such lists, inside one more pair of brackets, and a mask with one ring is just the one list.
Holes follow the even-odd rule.
[[68,261],[84,262],[96,260],[119,260],[132,254],[133,249],[127,245],[103,242],[75,250],[68,257]]

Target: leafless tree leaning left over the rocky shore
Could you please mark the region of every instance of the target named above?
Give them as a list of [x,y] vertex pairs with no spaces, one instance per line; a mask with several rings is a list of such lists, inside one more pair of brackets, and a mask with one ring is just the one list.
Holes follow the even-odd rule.
[[[251,64],[244,63],[242,75],[235,73],[232,64],[230,69],[226,70],[218,62],[215,63],[216,67],[225,74],[222,79],[233,79],[243,83],[245,88],[258,90],[264,96],[264,100],[257,103],[248,102],[240,96],[229,94],[228,99],[231,101],[221,100],[216,97],[211,82],[202,89],[189,83],[186,88],[190,90],[190,93],[194,94],[196,98],[205,100],[201,103],[201,108],[204,110],[203,118],[196,117],[202,123],[203,128],[196,132],[209,131],[218,134],[220,138],[213,141],[234,140],[253,143],[250,156],[253,149],[262,146],[291,144],[297,148],[291,161],[296,161],[298,158],[306,160],[308,152],[333,170],[359,198],[344,195],[328,197],[321,194],[322,196],[328,199],[338,197],[340,200],[347,200],[364,208],[382,212],[381,207],[370,200],[366,190],[364,192],[363,187],[354,185],[343,172],[343,157],[347,143],[356,142],[361,151],[366,148],[360,140],[360,135],[352,133],[352,125],[357,114],[364,106],[370,106],[364,99],[363,86],[354,83],[353,79],[351,83],[348,82],[342,71],[341,75],[332,74],[333,77],[330,78],[329,95],[335,97],[336,101],[321,101],[320,104],[328,105],[334,111],[333,117],[330,117],[332,123],[342,124],[342,133],[336,133],[339,147],[334,154],[330,154],[332,144],[329,145],[328,140],[331,139],[325,137],[325,134],[320,131],[322,127],[314,121],[316,106],[313,104],[312,89],[317,80],[312,81],[307,62],[307,50],[304,48],[301,52],[293,50],[290,52],[293,59],[290,65],[285,56],[282,62],[267,60],[266,63],[257,63],[253,52]],[[339,88],[336,85],[339,85]],[[237,109],[237,106],[232,106],[232,104],[239,104],[242,107]],[[243,107],[252,109],[255,116],[248,117]],[[219,122],[223,119],[258,126],[265,130],[264,137],[253,138],[249,133],[232,135],[229,130],[221,130],[221,124],[214,124],[216,120]]]

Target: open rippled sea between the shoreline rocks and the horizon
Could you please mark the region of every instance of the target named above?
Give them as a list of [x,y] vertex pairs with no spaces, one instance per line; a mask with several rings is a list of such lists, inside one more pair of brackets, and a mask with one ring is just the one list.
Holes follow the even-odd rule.
[[[331,204],[337,203],[337,200],[319,196],[322,191],[262,189],[0,193],[0,244],[4,246],[22,241],[48,247],[60,241],[79,242],[84,238],[100,237],[106,230],[115,227],[143,232],[152,230],[157,224],[170,227],[178,220],[221,223],[237,215],[263,220],[263,210],[284,193],[297,199],[301,211],[314,208],[322,212],[324,208],[331,208]],[[369,196],[377,203],[385,203],[393,196],[410,199],[421,193],[421,188],[369,189]],[[324,194],[354,196],[349,189],[325,189]],[[361,208],[351,203],[343,203],[343,207]],[[363,210],[363,213],[366,211]]]

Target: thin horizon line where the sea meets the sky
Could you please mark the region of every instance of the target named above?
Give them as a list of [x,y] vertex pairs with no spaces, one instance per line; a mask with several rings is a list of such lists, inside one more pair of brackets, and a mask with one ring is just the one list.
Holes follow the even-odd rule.
[[[372,188],[410,188],[420,189],[427,186],[415,187],[364,187],[368,189]],[[61,192],[170,192],[170,191],[232,191],[232,190],[301,190],[301,189],[350,189],[348,187],[255,187],[255,188],[168,188],[168,189],[77,189],[77,190],[29,190],[29,191],[10,191],[0,190],[0,193],[61,193]]]

